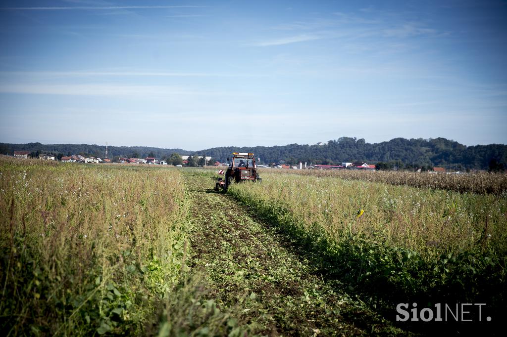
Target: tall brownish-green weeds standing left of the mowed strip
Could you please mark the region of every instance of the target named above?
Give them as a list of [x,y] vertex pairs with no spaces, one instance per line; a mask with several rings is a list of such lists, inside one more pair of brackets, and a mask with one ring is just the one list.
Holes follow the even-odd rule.
[[139,334],[180,279],[175,170],[0,160],[0,329]]

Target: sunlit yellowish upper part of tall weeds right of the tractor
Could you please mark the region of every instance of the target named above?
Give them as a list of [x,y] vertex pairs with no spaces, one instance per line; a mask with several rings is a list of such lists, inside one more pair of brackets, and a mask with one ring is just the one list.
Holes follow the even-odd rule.
[[[303,224],[319,224],[334,240],[360,233],[427,252],[507,246],[507,198],[390,184],[264,173],[241,193],[281,203]],[[263,180],[263,182],[264,182]],[[357,212],[364,214],[357,218]]]

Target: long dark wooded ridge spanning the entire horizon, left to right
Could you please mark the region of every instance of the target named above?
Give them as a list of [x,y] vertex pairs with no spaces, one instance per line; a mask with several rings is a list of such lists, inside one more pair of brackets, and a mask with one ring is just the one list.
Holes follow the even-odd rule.
[[[0,143],[0,153],[12,155],[14,151],[54,154],[88,154],[103,157],[105,146],[87,144],[53,144],[41,143],[6,144]],[[109,146],[109,157],[168,157],[171,153],[182,155],[198,154],[213,157],[214,160],[226,161],[231,153],[253,152],[263,163],[285,161],[286,163],[312,162],[318,164],[337,164],[344,161],[366,161],[368,163],[400,161],[403,166],[444,166],[464,170],[465,168],[485,169],[491,165],[507,167],[507,145],[490,144],[465,146],[445,138],[404,139],[395,138],[388,142],[366,143],[364,139],[342,137],[329,141],[325,145],[256,146],[256,147],[215,147],[201,151],[183,149],[161,149],[156,147]],[[400,163],[399,163],[400,165]]]

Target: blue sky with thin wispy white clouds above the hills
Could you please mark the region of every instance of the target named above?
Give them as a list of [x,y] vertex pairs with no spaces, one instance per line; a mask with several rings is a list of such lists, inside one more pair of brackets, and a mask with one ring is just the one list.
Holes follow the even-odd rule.
[[4,1],[0,142],[507,143],[505,1]]

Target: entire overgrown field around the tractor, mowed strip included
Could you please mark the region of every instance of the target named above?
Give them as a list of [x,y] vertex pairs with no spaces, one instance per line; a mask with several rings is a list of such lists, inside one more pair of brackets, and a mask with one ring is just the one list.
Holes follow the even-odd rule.
[[212,170],[0,159],[2,331],[433,333],[395,322],[409,301],[500,321],[504,176],[262,175],[224,194]]

